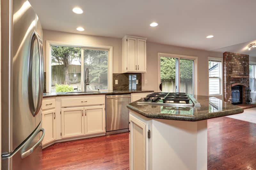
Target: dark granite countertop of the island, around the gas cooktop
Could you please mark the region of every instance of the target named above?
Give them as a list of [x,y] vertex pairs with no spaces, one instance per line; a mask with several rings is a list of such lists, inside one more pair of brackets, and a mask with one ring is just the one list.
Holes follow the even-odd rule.
[[137,105],[141,99],[128,104],[127,107],[148,118],[191,122],[244,112],[242,108],[215,97],[195,95],[194,98],[201,104],[201,107],[179,107],[177,109],[166,106]]

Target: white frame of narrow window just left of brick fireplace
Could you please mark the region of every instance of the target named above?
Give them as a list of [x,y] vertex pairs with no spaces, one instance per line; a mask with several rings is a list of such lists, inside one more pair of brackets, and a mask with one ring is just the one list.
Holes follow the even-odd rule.
[[[220,72],[220,77],[209,77],[209,60],[216,60],[220,62],[219,66],[219,72]],[[208,77],[208,95],[209,96],[214,96],[214,97],[222,97],[223,96],[223,58],[218,58],[218,57],[208,57],[207,60],[207,77]],[[219,78],[220,81],[220,93],[219,94],[209,94],[209,86],[210,86],[210,78]]]

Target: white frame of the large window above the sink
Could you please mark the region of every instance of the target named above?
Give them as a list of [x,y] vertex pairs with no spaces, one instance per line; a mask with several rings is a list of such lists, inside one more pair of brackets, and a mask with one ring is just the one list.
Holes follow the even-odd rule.
[[[51,69],[51,46],[65,46],[65,47],[77,47],[77,48],[90,48],[90,49],[101,49],[108,50],[108,89],[100,90],[100,91],[108,91],[113,90],[113,47],[112,46],[103,46],[103,45],[93,45],[93,44],[78,44],[72,42],[62,42],[62,41],[46,41],[46,92],[50,92],[51,90],[51,79],[50,75],[52,75]],[[82,50],[81,49],[81,50]],[[83,53],[81,52],[81,60],[83,57]],[[82,61],[81,61],[82,63]],[[81,64],[81,90],[83,91],[84,84],[84,71],[83,64]]]

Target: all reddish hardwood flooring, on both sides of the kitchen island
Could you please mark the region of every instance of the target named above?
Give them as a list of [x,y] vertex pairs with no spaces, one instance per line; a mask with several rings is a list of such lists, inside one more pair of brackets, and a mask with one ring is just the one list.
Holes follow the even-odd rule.
[[[128,133],[57,143],[43,150],[43,169],[129,169]],[[208,120],[208,169],[256,169],[256,124]]]

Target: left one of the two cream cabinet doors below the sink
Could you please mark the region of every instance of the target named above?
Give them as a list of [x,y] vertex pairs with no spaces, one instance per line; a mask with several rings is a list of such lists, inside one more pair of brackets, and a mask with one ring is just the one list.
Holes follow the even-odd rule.
[[84,135],[84,107],[61,109],[61,138]]

